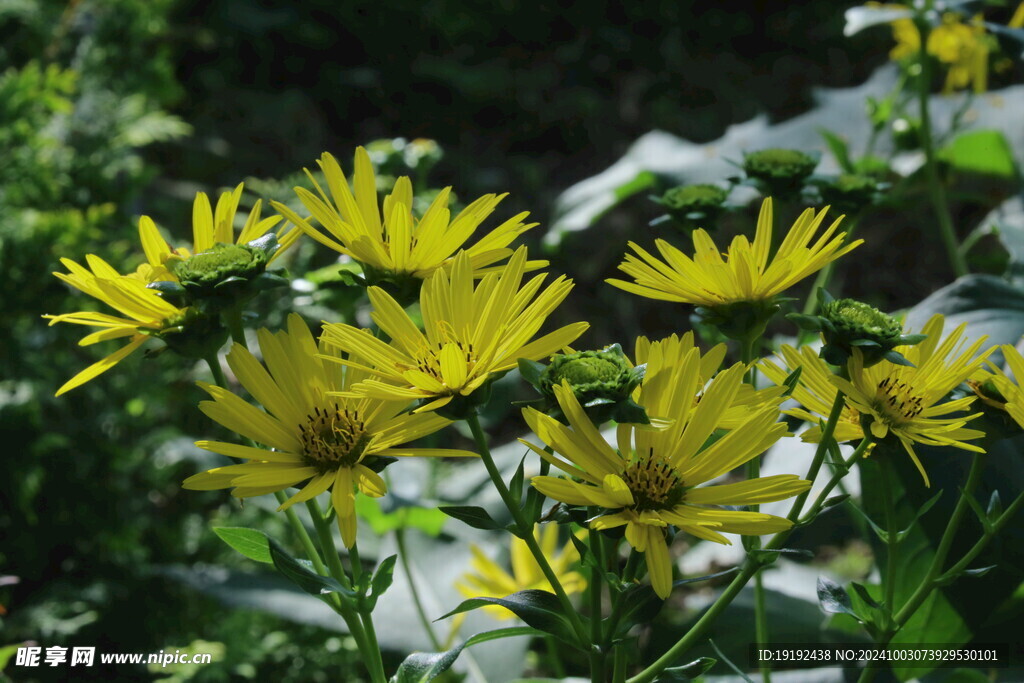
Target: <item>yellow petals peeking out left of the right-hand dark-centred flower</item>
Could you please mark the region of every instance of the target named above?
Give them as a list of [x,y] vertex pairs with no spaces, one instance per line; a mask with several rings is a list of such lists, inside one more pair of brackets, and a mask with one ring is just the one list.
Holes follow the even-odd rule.
[[[810,346],[796,349],[783,345],[779,351],[779,361],[784,364],[784,367],[765,358],[758,364],[758,368],[765,377],[779,386],[791,373],[798,368],[802,369],[800,381],[793,390],[793,397],[802,408],[782,412],[810,424],[810,429],[803,432],[800,437],[804,441],[817,443],[821,440],[821,427],[818,423],[828,419],[833,403],[836,402],[836,394],[839,393],[839,389],[831,383],[833,371]],[[834,436],[840,443],[864,438],[864,431],[860,428],[860,413],[849,404],[844,404]]]

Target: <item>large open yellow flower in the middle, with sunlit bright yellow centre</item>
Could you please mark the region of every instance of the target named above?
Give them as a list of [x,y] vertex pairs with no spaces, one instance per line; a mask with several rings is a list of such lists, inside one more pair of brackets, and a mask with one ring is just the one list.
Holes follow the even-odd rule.
[[547,357],[571,343],[587,330],[586,323],[530,341],[568,295],[572,281],[559,275],[538,294],[545,275],[522,285],[525,266],[526,248],[520,247],[503,271],[487,273],[474,286],[472,258],[460,252],[451,276],[439,269],[423,285],[424,332],[384,290],[369,288],[373,319],[391,338],[390,344],[349,325],[324,328],[327,344],[367,359],[338,362],[376,376],[354,384],[346,395],[425,399],[430,402],[417,412],[432,411],[473,393],[496,374],[515,368],[518,358]]

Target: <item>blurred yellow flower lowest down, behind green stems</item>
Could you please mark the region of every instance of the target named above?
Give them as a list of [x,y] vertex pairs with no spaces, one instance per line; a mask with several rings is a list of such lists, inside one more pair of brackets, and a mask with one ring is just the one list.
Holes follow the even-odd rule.
[[[558,577],[565,593],[571,595],[587,588],[587,580],[573,569],[579,557],[572,543],[567,542],[558,550],[558,525],[545,524],[540,532],[534,529],[534,538],[544,551],[551,569]],[[511,561],[512,573],[506,571],[500,564],[483,554],[476,545],[469,548],[473,554],[472,572],[464,573],[456,583],[456,588],[467,598],[504,598],[519,591],[540,590],[552,591],[551,583],[537,563],[537,559],[526,542],[512,537]],[[493,616],[500,620],[514,618],[515,614],[499,605],[484,607]]]

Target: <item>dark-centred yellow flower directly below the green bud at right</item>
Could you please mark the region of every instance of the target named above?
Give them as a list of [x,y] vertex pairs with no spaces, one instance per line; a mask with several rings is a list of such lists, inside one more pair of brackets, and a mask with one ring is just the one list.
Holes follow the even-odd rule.
[[[943,402],[954,387],[974,375],[993,349],[978,353],[985,338],[965,348],[961,325],[942,340],[943,317],[935,315],[925,325],[927,339],[914,346],[897,346],[913,367],[897,366],[888,360],[864,368],[859,349],[850,358],[850,379],[831,376],[830,381],[844,394],[849,405],[870,420],[871,434],[885,438],[892,434],[903,444],[913,464],[931,486],[928,473],[913,451],[914,443],[948,445],[984,453],[967,443],[984,433],[964,425],[979,417],[943,417],[966,410],[975,396]],[[941,340],[941,342],[940,342]]]

